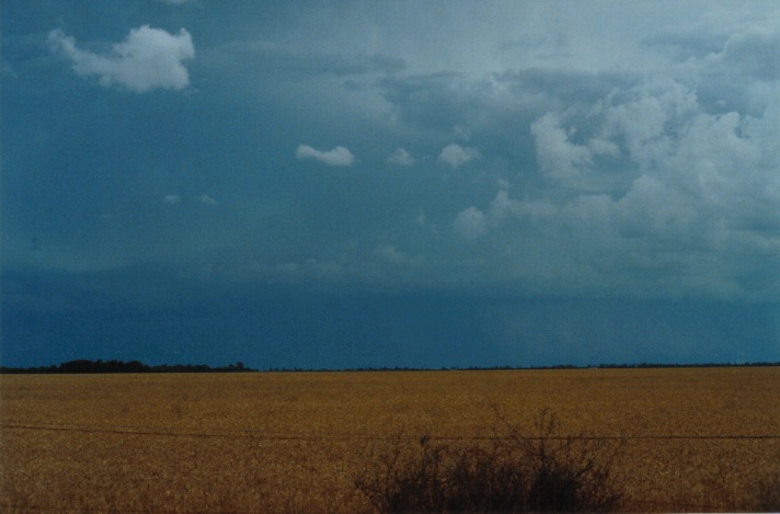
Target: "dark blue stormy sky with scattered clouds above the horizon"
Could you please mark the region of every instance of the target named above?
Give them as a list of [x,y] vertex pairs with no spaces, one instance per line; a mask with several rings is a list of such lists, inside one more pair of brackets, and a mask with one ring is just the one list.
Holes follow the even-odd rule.
[[776,1],[5,0],[0,362],[780,361]]

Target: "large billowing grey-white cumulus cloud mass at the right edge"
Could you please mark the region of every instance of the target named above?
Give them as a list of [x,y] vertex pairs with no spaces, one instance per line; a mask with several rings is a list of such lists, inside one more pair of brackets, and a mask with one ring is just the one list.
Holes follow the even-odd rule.
[[[777,298],[779,105],[726,111],[699,103],[690,84],[656,79],[587,116],[550,111],[532,136],[540,169],[557,180],[527,183],[523,199],[502,189],[462,210],[454,235],[484,240],[490,251],[474,261],[484,273],[517,279],[551,270],[564,288]],[[559,187],[584,180],[593,187]]]

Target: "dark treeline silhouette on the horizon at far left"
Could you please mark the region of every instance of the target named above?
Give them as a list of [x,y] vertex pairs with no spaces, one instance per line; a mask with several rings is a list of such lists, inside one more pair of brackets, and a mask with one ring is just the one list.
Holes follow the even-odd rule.
[[90,361],[77,359],[60,365],[38,367],[0,367],[0,373],[8,374],[84,374],[84,373],[243,373],[256,372],[243,363],[211,367],[207,364],[162,364],[149,366],[139,361]]

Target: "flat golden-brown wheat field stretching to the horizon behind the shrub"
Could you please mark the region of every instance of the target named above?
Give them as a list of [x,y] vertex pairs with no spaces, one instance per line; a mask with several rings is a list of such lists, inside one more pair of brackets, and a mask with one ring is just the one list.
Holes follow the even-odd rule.
[[399,434],[623,437],[623,509],[755,509],[780,482],[780,368],[4,375],[0,510],[371,512]]

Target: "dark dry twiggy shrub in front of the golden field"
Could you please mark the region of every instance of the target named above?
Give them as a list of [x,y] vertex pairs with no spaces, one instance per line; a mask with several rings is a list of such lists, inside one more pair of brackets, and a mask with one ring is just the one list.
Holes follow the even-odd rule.
[[607,512],[621,500],[616,448],[559,436],[542,411],[538,436],[500,416],[501,430],[471,443],[415,444],[399,436],[355,486],[379,512]]

